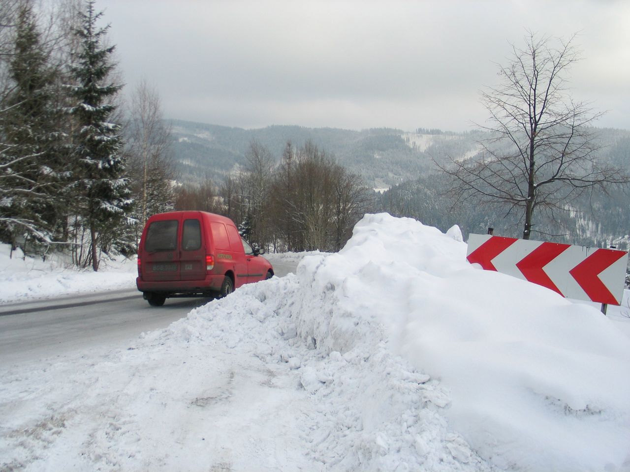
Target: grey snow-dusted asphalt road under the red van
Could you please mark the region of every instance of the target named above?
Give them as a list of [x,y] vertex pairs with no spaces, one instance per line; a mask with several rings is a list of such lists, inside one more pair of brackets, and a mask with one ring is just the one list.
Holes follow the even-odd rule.
[[[277,262],[276,276],[295,272]],[[163,329],[207,298],[169,298],[149,306],[137,289],[66,296],[0,306],[0,362],[4,365],[64,357],[77,351],[132,347],[142,332]]]

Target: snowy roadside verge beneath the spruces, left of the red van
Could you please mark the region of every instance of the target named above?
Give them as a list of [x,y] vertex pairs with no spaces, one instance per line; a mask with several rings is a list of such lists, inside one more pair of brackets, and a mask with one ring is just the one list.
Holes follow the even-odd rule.
[[40,257],[24,257],[20,249],[9,257],[10,251],[8,244],[0,244],[0,303],[135,288],[135,259],[118,257],[101,262],[100,270],[94,272],[71,267],[69,261],[57,254],[42,261]]

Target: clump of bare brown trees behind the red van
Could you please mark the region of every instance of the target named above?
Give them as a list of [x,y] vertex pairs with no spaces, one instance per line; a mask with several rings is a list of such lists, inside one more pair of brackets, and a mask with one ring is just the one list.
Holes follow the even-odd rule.
[[252,142],[246,159],[239,175],[219,186],[207,180],[178,189],[175,207],[229,216],[260,247],[294,252],[341,249],[374,208],[374,192],[360,176],[312,142],[298,149],[287,142],[279,162]]

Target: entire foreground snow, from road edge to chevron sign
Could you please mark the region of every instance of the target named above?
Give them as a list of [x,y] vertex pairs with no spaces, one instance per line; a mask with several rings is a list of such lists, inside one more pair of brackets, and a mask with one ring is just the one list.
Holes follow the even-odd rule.
[[461,240],[366,215],[128,349],[1,366],[0,469],[630,471],[627,291],[606,317]]

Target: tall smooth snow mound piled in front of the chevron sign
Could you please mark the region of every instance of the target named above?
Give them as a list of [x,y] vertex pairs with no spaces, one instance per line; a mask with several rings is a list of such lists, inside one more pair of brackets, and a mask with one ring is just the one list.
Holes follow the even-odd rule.
[[367,215],[339,254],[306,258],[303,306],[321,308],[295,312],[302,339],[386,342],[440,379],[451,427],[500,468],[627,468],[627,336],[592,306],[467,264],[449,234]]

